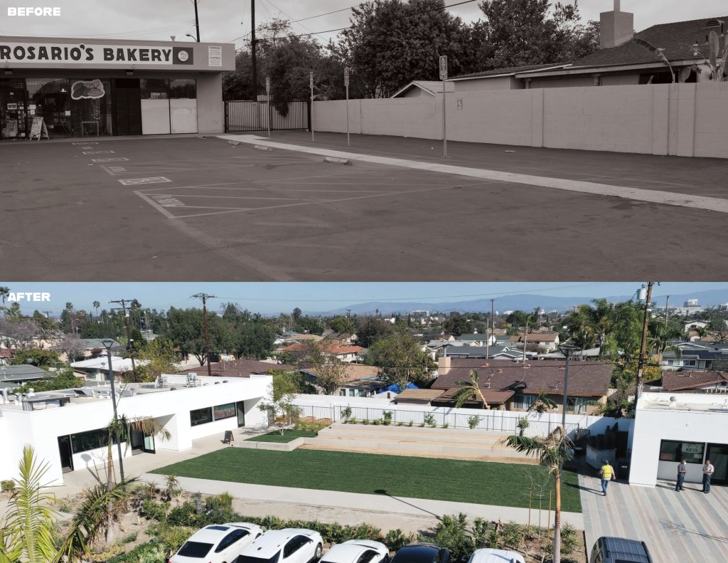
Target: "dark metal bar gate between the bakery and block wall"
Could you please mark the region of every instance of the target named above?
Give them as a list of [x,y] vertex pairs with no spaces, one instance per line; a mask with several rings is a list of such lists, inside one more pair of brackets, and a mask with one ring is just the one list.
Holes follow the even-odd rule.
[[[309,101],[288,101],[285,115],[275,104],[264,101],[230,100],[225,102],[225,132],[308,131],[311,117]],[[285,111],[285,110],[284,110]]]

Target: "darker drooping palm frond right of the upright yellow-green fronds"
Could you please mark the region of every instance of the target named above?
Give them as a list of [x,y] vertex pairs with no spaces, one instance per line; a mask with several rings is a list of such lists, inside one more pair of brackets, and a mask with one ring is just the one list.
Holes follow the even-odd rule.
[[60,545],[54,563],[60,563],[64,558],[68,561],[87,556],[92,543],[106,531],[108,525],[109,507],[118,506],[128,500],[133,490],[130,484],[136,483],[138,478],[124,479],[109,488],[106,484],[98,484],[88,489],[84,494],[84,502],[71,522],[66,538]]

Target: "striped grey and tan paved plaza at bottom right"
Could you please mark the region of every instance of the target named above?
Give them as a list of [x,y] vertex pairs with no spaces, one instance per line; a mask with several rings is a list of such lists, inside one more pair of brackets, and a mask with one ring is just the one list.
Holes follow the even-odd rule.
[[609,484],[601,496],[598,478],[579,475],[587,550],[603,535],[644,540],[660,563],[728,561],[728,488],[673,483],[656,487]]

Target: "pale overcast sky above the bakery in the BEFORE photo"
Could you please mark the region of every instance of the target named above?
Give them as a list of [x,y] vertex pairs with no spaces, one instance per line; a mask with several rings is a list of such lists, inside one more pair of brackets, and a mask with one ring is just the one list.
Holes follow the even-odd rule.
[[[232,42],[250,32],[251,0],[199,0],[200,35],[202,41]],[[446,0],[457,4],[462,0]],[[562,0],[570,1],[570,0]],[[571,0],[573,1],[573,0]],[[325,32],[349,26],[349,7],[353,0],[256,0],[258,24],[273,17],[304,21],[293,24],[296,34]],[[463,20],[482,18],[479,1],[471,1],[450,11]],[[8,17],[7,7],[60,7],[58,18]],[[583,20],[599,18],[599,12],[612,9],[613,0],[580,0]],[[194,5],[192,0],[0,0],[0,36],[69,36],[79,38],[105,37],[117,39],[156,39],[167,41],[170,35],[178,41],[191,41],[194,35]],[[321,15],[325,12],[334,12]],[[633,12],[638,30],[654,23],[695,20],[728,14],[724,0],[622,0],[622,10]],[[312,18],[312,16],[319,16]],[[317,33],[321,42],[335,38],[336,32]]]

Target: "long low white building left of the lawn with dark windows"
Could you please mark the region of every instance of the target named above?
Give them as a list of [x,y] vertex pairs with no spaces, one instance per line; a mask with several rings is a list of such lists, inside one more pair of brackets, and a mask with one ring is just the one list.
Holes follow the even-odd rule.
[[[170,438],[132,432],[124,457],[157,450],[191,449],[192,440],[220,435],[239,427],[266,427],[258,409],[268,394],[271,376],[248,378],[163,376],[163,384],[117,385],[119,416],[149,417],[170,432]],[[121,389],[120,389],[121,388]],[[121,392],[119,393],[119,391]],[[107,439],[101,430],[114,411],[110,388],[68,389],[0,398],[0,479],[17,476],[23,446],[33,446],[50,469],[50,484],[63,484],[63,473],[105,467]],[[116,448],[113,449],[116,458]]]

